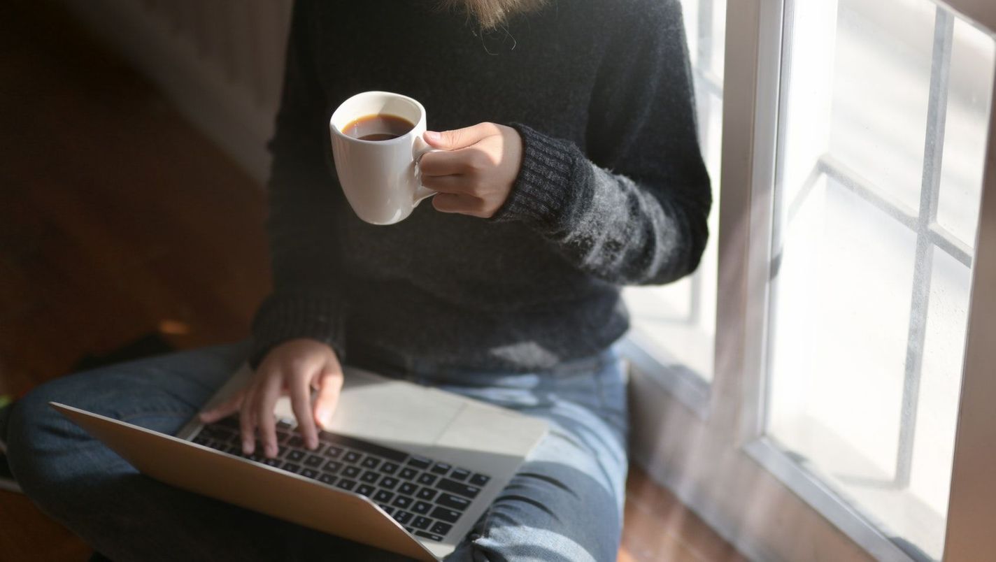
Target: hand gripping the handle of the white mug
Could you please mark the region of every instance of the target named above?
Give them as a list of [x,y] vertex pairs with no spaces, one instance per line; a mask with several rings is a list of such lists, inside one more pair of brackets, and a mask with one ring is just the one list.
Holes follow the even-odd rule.
[[494,216],[508,199],[522,165],[522,137],[496,123],[443,132],[425,131],[425,142],[446,152],[422,156],[422,185],[439,193],[432,206],[443,213]]

